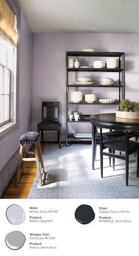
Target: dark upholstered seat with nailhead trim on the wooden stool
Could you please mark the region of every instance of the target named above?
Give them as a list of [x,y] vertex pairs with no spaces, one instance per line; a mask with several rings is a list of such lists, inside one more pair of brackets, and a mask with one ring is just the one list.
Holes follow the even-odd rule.
[[35,143],[39,140],[40,134],[38,132],[25,132],[20,138],[19,143]]

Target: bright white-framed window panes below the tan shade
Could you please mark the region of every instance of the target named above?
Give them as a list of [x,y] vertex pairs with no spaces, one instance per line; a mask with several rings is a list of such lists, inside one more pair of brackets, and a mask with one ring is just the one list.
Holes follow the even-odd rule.
[[5,124],[15,122],[16,47],[9,47],[0,40],[0,132],[7,128]]

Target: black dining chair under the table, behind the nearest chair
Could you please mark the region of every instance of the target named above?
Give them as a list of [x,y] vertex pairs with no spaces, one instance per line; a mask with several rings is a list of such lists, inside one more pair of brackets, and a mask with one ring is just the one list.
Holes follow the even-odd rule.
[[[112,131],[110,129],[109,132],[102,132],[102,139],[106,140],[107,138],[122,138],[125,136],[125,132],[122,131]],[[95,160],[97,154],[97,142],[100,141],[100,132],[98,132],[98,128],[95,128],[95,141],[94,141],[94,148],[95,148]],[[109,153],[111,153],[111,149],[109,148]],[[121,151],[120,151],[121,154]],[[114,163],[114,158],[113,163]],[[111,157],[109,157],[109,166],[111,166]]]

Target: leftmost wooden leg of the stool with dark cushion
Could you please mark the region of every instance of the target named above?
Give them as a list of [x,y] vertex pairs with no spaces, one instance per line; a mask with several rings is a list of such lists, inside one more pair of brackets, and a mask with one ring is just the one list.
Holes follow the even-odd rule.
[[24,147],[25,147],[24,144],[20,144],[18,164],[17,164],[17,167],[16,167],[16,173],[15,173],[15,179],[14,179],[14,187],[18,186],[19,175],[21,174],[21,168],[20,167],[21,167],[21,163],[22,163],[22,157],[24,155]]

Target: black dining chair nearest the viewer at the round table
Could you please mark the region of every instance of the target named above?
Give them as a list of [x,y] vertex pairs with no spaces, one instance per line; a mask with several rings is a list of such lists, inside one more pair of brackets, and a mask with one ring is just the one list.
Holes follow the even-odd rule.
[[[104,152],[105,148],[110,148],[112,153]],[[114,150],[114,151],[113,151]],[[113,152],[115,150],[124,151],[125,155],[117,155]],[[128,131],[125,132],[124,140],[120,138],[109,138],[108,140],[102,140],[102,128],[100,128],[100,166],[101,166],[101,178],[103,177],[103,155],[107,155],[112,158],[119,158],[125,160],[125,183],[128,186],[128,167],[129,167],[129,155],[136,151],[136,161],[137,161],[137,178],[139,175],[139,143],[134,141],[129,141]]]

